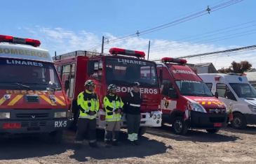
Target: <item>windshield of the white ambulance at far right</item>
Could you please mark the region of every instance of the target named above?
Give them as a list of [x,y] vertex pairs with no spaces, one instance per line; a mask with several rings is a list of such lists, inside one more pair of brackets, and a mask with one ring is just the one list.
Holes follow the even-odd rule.
[[256,98],[256,91],[251,84],[247,83],[229,83],[236,92],[238,98]]

